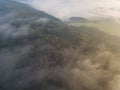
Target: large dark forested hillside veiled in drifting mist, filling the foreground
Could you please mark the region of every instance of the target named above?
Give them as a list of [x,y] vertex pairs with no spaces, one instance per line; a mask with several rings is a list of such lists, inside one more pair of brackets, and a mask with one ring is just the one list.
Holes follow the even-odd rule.
[[0,90],[119,87],[119,38],[10,0],[0,10]]

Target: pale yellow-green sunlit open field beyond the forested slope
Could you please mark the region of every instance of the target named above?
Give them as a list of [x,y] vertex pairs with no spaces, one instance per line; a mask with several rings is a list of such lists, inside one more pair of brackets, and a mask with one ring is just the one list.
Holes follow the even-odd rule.
[[90,21],[87,23],[69,23],[69,25],[96,27],[107,34],[120,37],[120,24],[114,21]]

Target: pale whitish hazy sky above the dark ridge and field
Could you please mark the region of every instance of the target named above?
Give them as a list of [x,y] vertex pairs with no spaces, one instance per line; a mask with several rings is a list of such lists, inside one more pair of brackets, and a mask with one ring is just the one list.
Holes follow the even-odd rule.
[[59,18],[120,17],[120,0],[24,0],[24,2]]

